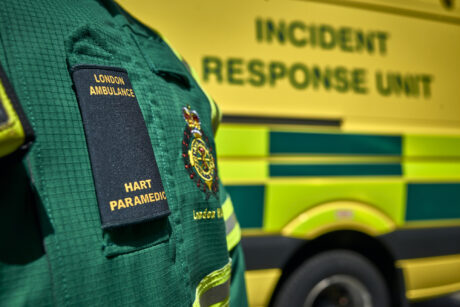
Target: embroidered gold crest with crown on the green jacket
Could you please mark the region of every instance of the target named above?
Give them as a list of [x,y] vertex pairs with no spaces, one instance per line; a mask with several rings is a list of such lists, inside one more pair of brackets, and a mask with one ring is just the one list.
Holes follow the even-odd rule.
[[217,197],[219,178],[213,149],[208,146],[209,139],[201,130],[198,113],[191,110],[190,106],[183,108],[182,111],[187,123],[182,141],[185,168],[189,172],[190,179],[194,180],[196,186],[206,194],[206,198],[209,198],[211,194]]

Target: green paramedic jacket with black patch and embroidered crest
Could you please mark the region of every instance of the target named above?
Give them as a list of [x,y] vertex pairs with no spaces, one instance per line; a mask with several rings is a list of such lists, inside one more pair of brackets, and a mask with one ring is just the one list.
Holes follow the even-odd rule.
[[247,305],[218,111],[160,35],[109,1],[2,1],[0,64],[35,132],[0,164],[0,305]]

